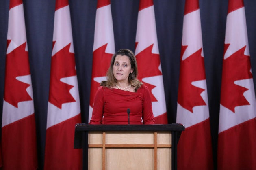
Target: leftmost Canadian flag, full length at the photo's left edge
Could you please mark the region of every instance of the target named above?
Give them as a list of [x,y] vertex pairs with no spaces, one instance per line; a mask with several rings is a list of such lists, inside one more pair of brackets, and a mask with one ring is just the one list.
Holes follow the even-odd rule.
[[4,170],[37,169],[35,111],[22,0],[10,0],[1,148]]

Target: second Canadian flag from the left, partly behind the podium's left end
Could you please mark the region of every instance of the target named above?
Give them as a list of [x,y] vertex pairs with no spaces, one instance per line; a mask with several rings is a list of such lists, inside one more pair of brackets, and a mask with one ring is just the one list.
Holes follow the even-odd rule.
[[81,123],[81,114],[69,3],[56,0],[45,170],[82,168],[82,150],[74,149],[76,123]]

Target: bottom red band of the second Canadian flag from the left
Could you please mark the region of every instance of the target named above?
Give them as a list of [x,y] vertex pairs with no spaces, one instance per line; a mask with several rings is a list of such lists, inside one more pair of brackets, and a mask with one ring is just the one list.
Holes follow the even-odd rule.
[[45,170],[82,169],[82,149],[74,149],[73,147],[74,125],[80,122],[81,114],[78,114],[47,129]]

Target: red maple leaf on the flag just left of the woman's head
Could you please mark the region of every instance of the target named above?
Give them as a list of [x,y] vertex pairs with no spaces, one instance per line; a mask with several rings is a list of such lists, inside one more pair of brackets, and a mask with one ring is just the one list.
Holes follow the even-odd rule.
[[108,44],[102,45],[98,49],[93,51],[93,67],[91,75],[91,94],[90,94],[90,106],[93,106],[93,100],[100,83],[94,81],[95,77],[106,76],[106,72],[109,68],[111,57],[113,54],[106,53],[106,47]]

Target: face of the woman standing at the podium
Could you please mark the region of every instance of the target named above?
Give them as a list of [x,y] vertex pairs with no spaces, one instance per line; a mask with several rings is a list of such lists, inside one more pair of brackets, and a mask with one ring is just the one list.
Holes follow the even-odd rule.
[[129,57],[117,55],[113,65],[113,73],[117,82],[128,83],[129,74],[133,72]]

